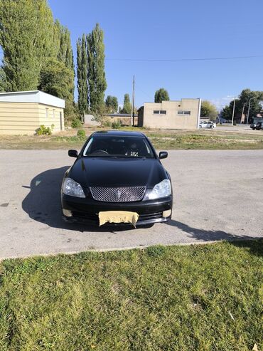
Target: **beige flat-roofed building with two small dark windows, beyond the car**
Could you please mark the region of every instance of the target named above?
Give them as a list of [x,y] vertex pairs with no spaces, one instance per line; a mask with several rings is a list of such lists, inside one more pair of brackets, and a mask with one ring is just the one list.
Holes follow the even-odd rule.
[[196,129],[200,120],[201,99],[182,99],[144,103],[138,110],[138,127]]

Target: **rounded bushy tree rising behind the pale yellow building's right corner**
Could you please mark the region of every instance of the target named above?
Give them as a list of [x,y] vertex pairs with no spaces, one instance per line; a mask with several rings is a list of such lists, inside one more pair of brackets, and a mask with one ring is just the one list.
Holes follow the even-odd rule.
[[50,58],[41,70],[41,83],[39,90],[55,95],[65,100],[65,118],[75,118],[75,109],[71,93],[73,71],[65,66],[65,63],[55,58]]

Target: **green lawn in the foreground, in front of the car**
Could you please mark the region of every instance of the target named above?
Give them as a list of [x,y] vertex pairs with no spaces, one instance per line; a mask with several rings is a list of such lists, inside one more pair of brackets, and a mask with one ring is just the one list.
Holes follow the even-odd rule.
[[262,244],[3,261],[0,350],[262,350]]

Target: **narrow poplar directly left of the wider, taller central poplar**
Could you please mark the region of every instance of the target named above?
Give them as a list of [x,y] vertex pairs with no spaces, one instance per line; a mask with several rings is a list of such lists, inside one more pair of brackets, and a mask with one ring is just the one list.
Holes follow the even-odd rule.
[[88,110],[87,43],[84,34],[77,40],[77,93],[77,105],[83,116]]

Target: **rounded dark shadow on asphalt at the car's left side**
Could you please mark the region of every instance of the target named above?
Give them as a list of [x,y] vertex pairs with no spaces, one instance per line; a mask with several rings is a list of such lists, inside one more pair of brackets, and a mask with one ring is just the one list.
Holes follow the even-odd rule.
[[66,223],[62,219],[60,206],[60,187],[63,176],[70,166],[48,169],[31,180],[30,187],[24,184],[22,187],[30,188],[30,192],[22,201],[22,209],[28,216],[35,220],[47,224],[53,228],[68,229],[73,231],[100,231],[115,232],[133,230],[133,226],[98,226]]

